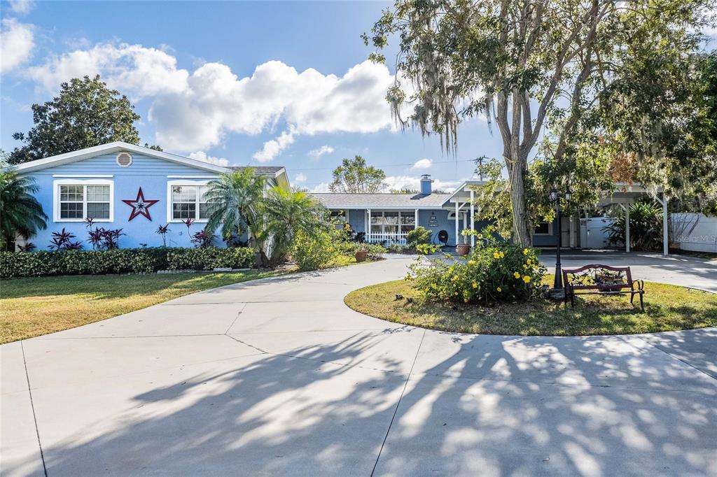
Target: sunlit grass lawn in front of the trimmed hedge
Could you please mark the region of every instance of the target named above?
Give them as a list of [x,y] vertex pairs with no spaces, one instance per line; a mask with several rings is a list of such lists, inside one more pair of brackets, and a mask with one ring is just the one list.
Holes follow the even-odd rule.
[[280,271],[47,276],[0,281],[0,343],[98,322],[153,304]]

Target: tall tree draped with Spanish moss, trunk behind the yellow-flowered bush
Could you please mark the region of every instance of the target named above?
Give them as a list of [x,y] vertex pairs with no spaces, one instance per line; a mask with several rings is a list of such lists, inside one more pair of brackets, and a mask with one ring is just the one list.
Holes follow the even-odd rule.
[[497,125],[513,239],[529,245],[528,163],[543,133],[551,133],[551,162],[561,164],[573,153],[585,114],[619,80],[625,62],[634,60],[625,54],[630,45],[635,54],[652,54],[672,46],[673,39],[696,44],[705,4],[397,0],[364,41],[377,49],[371,58],[384,62],[381,49],[389,38],[399,39],[396,84],[387,99],[404,127],[437,133],[448,150],[455,150],[466,117],[483,114]]

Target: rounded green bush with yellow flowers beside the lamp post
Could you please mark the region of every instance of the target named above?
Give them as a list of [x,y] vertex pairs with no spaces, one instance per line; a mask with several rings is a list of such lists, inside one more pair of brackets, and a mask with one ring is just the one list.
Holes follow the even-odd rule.
[[538,250],[511,244],[488,232],[480,234],[470,254],[419,259],[406,278],[432,301],[489,304],[536,297],[545,273]]

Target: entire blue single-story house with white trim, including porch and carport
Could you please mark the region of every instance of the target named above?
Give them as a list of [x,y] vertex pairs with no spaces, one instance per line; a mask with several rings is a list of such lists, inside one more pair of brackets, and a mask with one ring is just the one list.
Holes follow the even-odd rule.
[[[204,227],[207,213],[204,191],[210,180],[221,173],[239,170],[181,155],[142,148],[128,143],[109,143],[55,155],[16,166],[19,174],[32,177],[39,191],[37,199],[49,217],[48,227],[30,237],[37,249],[47,249],[52,232],[73,233],[75,240],[87,241],[85,219],[93,226],[122,229],[120,247],[161,246],[158,226],[168,224],[167,246],[192,246],[191,235]],[[290,189],[285,168],[255,167],[267,178],[267,187]],[[406,242],[409,231],[424,226],[432,242],[462,243],[465,229],[480,230],[488,221],[471,220],[480,216],[474,205],[475,186],[480,180],[467,180],[453,193],[434,193],[429,175],[421,178],[420,193],[315,193],[318,201],[335,215],[343,216],[354,231],[364,232],[369,242]],[[615,184],[616,191],[605,193],[599,206],[625,206],[647,194],[639,184]],[[663,223],[667,254],[667,199],[664,196]],[[185,221],[191,219],[188,227]],[[553,247],[558,243],[571,248],[591,245],[591,231],[585,218],[564,217],[559,231],[554,223],[537,223],[533,244]],[[630,228],[627,228],[628,233]],[[469,238],[473,242],[472,238]],[[17,241],[22,245],[24,239]],[[217,241],[217,245],[223,245]],[[598,245],[600,246],[600,244]],[[626,245],[629,251],[629,244]]]

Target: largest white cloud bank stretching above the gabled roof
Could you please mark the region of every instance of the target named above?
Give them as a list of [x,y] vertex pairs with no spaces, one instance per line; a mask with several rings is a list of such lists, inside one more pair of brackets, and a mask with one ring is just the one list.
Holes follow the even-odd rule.
[[94,74],[133,100],[151,97],[148,120],[156,130],[155,143],[172,150],[206,150],[230,133],[258,135],[285,124],[285,133],[257,152],[257,160],[264,162],[298,135],[395,129],[385,100],[394,76],[384,65],[369,61],[343,76],[313,68],[298,72],[270,61],[258,65],[251,76],[238,77],[219,62],[191,72],[181,69],[166,48],[103,43],[49,57],[27,69],[28,77],[49,92],[73,77]]

